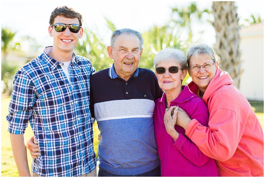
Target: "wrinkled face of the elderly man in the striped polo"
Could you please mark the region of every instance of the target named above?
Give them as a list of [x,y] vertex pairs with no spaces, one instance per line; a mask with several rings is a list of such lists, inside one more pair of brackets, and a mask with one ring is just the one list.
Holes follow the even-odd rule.
[[135,35],[119,35],[113,47],[108,46],[108,54],[114,62],[117,75],[127,81],[135,72],[143,49],[140,50],[140,40]]

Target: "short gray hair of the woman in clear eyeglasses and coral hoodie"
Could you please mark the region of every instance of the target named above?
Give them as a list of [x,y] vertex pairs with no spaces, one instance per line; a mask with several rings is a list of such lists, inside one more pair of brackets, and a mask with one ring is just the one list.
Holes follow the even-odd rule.
[[220,62],[220,57],[215,54],[214,50],[206,45],[206,44],[195,44],[194,46],[190,47],[187,51],[187,63],[188,67],[190,67],[190,59],[191,57],[195,57],[195,59],[199,59],[199,54],[204,55],[205,57],[212,59],[214,62]]

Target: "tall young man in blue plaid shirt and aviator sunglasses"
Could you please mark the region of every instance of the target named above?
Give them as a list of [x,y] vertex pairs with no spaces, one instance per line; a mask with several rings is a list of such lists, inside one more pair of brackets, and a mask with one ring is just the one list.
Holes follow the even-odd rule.
[[[8,131],[19,176],[96,176],[89,110],[91,62],[73,53],[82,16],[67,6],[51,13],[53,46],[14,77]],[[40,147],[29,172],[24,132],[30,122]]]

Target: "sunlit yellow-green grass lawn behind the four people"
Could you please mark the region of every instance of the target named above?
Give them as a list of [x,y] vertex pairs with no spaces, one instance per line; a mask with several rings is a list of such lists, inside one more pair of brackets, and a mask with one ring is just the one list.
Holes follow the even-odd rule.
[[[2,108],[1,108],[1,117],[2,117],[2,121],[1,121],[1,135],[2,135],[2,159],[1,159],[1,176],[6,177],[6,176],[18,176],[18,172],[17,172],[17,166],[15,163],[15,160],[13,158],[13,154],[12,154],[12,149],[11,149],[11,143],[10,143],[10,136],[9,136],[9,132],[7,131],[7,127],[8,127],[8,123],[6,120],[6,115],[8,113],[8,105],[9,105],[9,101],[10,101],[10,96],[8,97],[3,97],[1,99],[1,104],[2,104]],[[263,116],[264,116],[264,111],[263,111],[263,101],[249,101],[251,106],[253,107],[258,120],[261,123],[262,129],[263,129]],[[94,149],[97,155],[97,146],[98,146],[98,140],[97,140],[97,135],[99,134],[99,130],[97,128],[97,123],[95,122],[95,124],[93,125],[93,131],[94,131]],[[31,130],[31,126],[30,124],[28,125],[28,128],[26,129],[25,132],[25,140],[29,140],[29,138],[33,135],[33,132]],[[29,167],[31,167],[31,156],[30,153],[28,152],[28,164]]]

